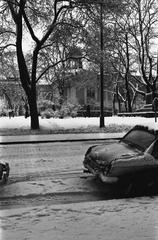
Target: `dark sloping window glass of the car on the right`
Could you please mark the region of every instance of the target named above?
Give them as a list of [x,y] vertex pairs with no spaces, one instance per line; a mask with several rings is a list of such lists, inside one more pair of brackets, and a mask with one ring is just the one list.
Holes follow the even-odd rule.
[[142,150],[148,148],[154,141],[155,135],[144,130],[132,130],[123,139],[123,142],[133,144]]

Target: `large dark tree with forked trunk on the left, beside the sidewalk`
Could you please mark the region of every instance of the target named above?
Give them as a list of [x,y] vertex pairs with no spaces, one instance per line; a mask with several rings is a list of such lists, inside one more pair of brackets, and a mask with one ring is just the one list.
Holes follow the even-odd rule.
[[[36,84],[40,79],[37,72],[40,52],[50,44],[57,27],[66,23],[69,2],[3,0],[1,4],[1,50],[16,48],[20,81],[30,108],[31,129],[39,129]],[[29,34],[32,44],[31,70],[23,49],[25,33]]]

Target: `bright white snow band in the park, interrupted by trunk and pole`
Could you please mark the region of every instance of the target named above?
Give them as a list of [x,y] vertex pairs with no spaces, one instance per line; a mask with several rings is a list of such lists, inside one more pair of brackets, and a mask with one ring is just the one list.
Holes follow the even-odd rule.
[[[84,127],[98,127],[99,118],[65,118],[65,119],[41,119],[40,127],[43,130],[54,129],[72,129],[72,128],[84,128]],[[143,124],[158,129],[158,123],[155,123],[154,118],[143,117],[105,117],[105,125],[129,125],[134,126],[137,124]],[[9,119],[8,117],[0,118],[0,129],[29,129],[30,118],[14,117]]]

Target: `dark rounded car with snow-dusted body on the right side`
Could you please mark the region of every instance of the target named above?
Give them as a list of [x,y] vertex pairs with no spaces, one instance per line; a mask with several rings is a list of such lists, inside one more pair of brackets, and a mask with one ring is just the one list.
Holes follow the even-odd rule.
[[91,146],[83,165],[105,183],[123,180],[158,187],[158,131],[135,126],[120,141]]

